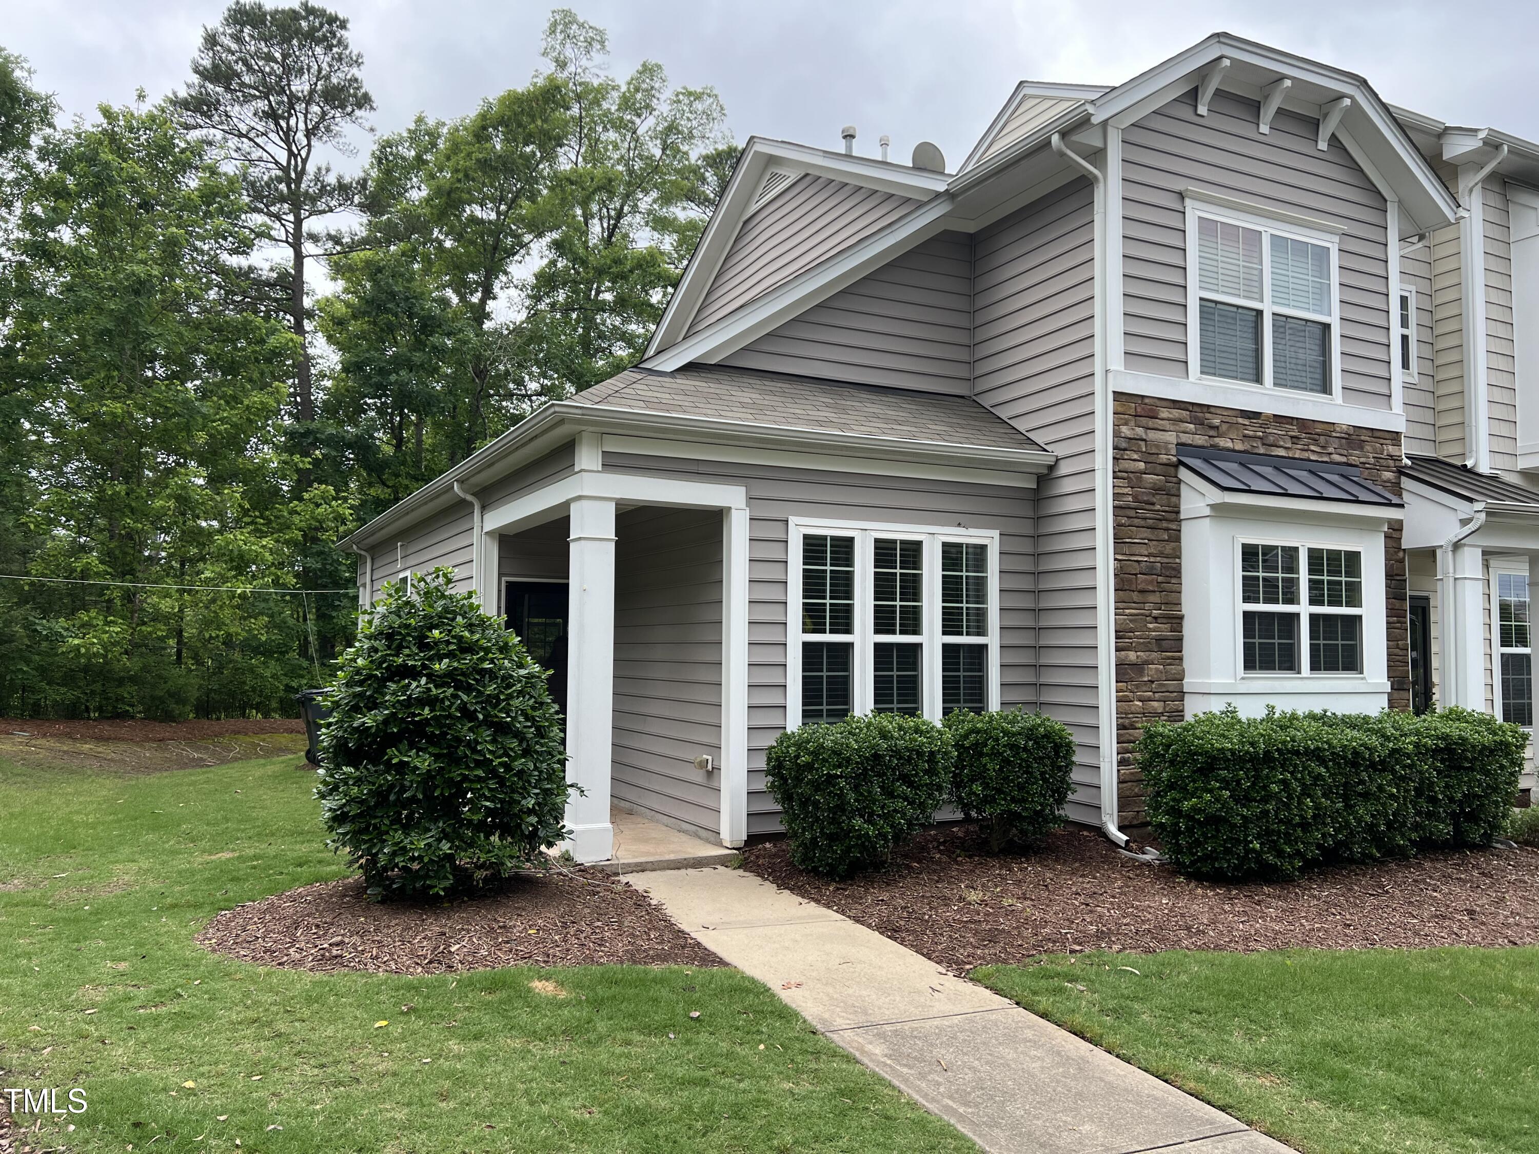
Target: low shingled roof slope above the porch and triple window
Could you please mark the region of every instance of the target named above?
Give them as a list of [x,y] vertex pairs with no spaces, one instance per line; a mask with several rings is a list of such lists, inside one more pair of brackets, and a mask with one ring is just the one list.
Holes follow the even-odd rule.
[[583,389],[573,397],[573,403],[783,429],[1045,452],[971,397],[805,380],[777,372],[716,366],[689,366],[676,372],[628,369]]

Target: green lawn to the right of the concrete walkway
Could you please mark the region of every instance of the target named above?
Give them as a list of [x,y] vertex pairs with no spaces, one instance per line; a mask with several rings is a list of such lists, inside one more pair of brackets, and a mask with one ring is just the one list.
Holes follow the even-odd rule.
[[1539,1149],[1539,949],[1083,954],[974,977],[1310,1154]]

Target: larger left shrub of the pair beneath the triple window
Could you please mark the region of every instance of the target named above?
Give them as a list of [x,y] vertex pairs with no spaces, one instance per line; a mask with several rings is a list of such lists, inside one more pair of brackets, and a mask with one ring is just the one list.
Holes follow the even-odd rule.
[[830,877],[882,865],[934,819],[951,759],[951,739],[923,717],[871,714],[780,734],[765,780],[791,860]]

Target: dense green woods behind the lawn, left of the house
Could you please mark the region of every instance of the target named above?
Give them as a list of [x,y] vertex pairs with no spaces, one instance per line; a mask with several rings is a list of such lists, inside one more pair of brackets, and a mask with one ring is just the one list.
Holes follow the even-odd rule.
[[0,48],[0,715],[291,714],[356,625],[332,543],[640,357],[737,149],[606,55],[559,9],[528,85],[376,134],[311,3],[94,118]]

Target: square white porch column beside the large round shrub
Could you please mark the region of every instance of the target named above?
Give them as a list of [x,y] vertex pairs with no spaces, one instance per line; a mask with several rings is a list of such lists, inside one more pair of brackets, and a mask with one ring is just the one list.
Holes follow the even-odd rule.
[[566,623],[566,780],[583,794],[566,802],[573,829],[563,848],[579,862],[614,854],[609,766],[614,735],[614,500],[571,502],[571,579]]

